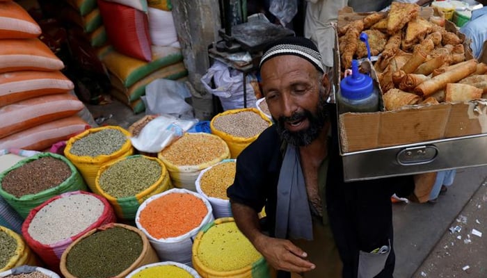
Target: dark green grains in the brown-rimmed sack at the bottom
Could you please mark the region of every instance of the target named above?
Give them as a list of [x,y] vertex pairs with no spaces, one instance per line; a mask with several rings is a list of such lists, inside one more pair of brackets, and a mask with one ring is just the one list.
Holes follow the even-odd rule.
[[122,227],[97,231],[72,247],[66,268],[79,278],[114,277],[141,256],[143,243],[136,232]]

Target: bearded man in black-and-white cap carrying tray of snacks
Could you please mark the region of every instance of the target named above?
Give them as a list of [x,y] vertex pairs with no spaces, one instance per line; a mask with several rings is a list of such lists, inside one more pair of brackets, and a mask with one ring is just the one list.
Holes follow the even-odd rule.
[[[275,124],[237,159],[227,190],[239,229],[278,277],[392,277],[392,194],[412,177],[344,183],[330,77],[311,40],[264,50],[262,90]],[[257,212],[266,208],[268,232]]]

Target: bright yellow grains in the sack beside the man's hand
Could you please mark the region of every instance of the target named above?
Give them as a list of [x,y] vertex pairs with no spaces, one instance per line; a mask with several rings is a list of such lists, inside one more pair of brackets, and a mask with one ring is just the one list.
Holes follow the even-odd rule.
[[233,221],[209,228],[198,246],[198,259],[216,271],[240,270],[261,257]]

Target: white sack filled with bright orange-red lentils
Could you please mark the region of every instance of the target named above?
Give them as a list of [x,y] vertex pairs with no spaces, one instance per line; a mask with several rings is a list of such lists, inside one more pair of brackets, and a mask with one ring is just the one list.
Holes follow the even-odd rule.
[[136,226],[149,238],[161,261],[190,266],[193,238],[213,220],[211,205],[205,197],[180,188],[145,200],[135,218]]

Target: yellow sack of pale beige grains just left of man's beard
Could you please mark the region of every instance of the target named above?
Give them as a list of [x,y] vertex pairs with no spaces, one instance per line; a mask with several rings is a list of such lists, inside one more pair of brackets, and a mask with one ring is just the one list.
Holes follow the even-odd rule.
[[227,142],[231,158],[237,158],[272,122],[257,108],[241,108],[219,113],[209,125],[211,133]]

